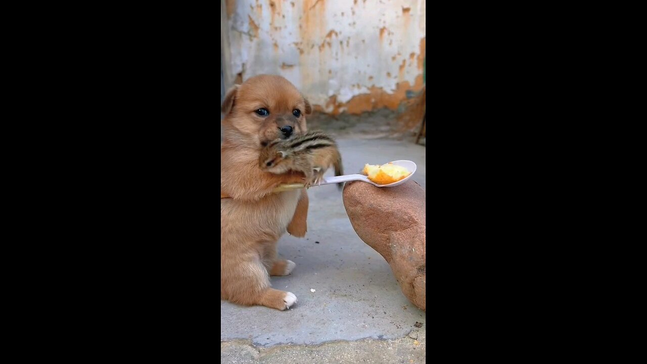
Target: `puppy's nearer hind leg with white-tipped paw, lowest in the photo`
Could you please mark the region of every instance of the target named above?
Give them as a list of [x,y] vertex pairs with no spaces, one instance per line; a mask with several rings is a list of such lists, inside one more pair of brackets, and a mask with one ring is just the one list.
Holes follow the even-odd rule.
[[237,304],[262,305],[277,310],[290,308],[296,302],[294,293],[270,288],[267,270],[260,260],[245,262],[233,269],[221,269],[220,295]]

